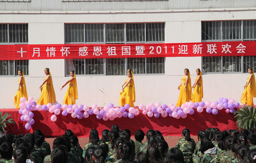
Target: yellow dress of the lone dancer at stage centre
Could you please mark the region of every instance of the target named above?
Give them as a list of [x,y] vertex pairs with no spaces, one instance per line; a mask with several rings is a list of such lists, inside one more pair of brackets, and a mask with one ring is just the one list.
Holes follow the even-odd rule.
[[[133,75],[132,75],[133,76]],[[127,78],[127,81],[129,78]],[[124,88],[124,92],[120,91],[120,98],[118,100],[119,105],[124,106],[125,104],[130,104],[130,107],[134,107],[135,102],[135,88],[134,88],[134,80],[132,77],[132,80],[130,83]]]

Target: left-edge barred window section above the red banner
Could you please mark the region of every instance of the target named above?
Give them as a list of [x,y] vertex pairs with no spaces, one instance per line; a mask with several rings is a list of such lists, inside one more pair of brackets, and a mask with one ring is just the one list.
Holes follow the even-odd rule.
[[0,44],[28,42],[28,24],[0,24]]

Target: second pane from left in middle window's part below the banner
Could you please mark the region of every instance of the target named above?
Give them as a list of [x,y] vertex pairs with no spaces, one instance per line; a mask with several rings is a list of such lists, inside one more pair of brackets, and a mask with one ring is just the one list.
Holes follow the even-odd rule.
[[104,59],[85,59],[85,74],[104,74]]

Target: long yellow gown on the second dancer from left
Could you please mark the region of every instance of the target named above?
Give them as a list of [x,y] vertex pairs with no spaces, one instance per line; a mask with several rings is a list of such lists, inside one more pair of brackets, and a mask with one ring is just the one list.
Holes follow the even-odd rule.
[[[49,72],[49,75],[50,75],[50,72]],[[52,75],[50,75],[50,78],[44,83],[41,96],[36,103],[37,105],[39,104],[46,105],[48,103],[54,103],[54,102],[56,102],[56,96],[55,96],[55,91],[53,87]]]

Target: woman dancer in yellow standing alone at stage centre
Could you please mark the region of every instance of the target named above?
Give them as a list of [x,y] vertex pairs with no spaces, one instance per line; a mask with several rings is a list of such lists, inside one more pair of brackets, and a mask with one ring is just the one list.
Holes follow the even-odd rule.
[[125,104],[130,104],[130,107],[134,107],[135,102],[135,86],[133,79],[133,72],[131,69],[127,70],[127,76],[125,83],[122,85],[122,90],[120,91],[119,105],[124,106]]

